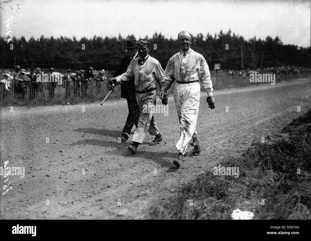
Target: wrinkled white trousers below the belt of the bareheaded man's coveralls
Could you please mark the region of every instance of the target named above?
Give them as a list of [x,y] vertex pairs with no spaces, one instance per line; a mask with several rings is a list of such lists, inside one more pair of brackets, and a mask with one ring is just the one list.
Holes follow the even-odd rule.
[[200,106],[200,84],[198,82],[191,84],[176,83],[174,89],[174,100],[180,123],[180,136],[176,144],[178,153],[183,155],[188,147],[198,144],[197,137],[197,117]]

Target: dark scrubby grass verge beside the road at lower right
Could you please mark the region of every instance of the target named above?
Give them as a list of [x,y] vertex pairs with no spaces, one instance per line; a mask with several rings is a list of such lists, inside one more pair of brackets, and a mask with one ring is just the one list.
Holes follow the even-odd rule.
[[310,220],[310,117],[311,109],[283,128],[286,138],[267,137],[241,158],[220,163],[239,167],[239,178],[213,175],[211,167],[151,206],[149,218],[231,219],[239,208],[253,212],[254,219]]

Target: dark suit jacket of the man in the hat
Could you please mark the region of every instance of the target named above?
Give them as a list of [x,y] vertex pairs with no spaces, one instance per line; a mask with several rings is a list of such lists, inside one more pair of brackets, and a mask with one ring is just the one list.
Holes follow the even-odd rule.
[[[139,58],[139,54],[137,53],[136,58]],[[125,56],[122,58],[121,63],[119,64],[118,68],[114,72],[113,77],[117,77],[118,75],[121,75],[126,72],[128,69],[128,65],[131,63],[131,57]],[[134,78],[131,80],[123,83],[121,85],[121,98],[124,99],[136,99],[135,95],[135,85],[134,85]]]

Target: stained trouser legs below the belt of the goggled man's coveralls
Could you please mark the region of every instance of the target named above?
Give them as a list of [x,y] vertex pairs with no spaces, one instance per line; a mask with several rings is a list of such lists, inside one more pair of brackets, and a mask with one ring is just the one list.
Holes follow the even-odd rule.
[[156,136],[160,133],[156,121],[152,116],[152,111],[146,111],[148,106],[156,105],[156,90],[143,94],[136,93],[136,100],[139,117],[138,126],[135,130],[132,141],[142,143],[147,132],[149,132],[151,136]]

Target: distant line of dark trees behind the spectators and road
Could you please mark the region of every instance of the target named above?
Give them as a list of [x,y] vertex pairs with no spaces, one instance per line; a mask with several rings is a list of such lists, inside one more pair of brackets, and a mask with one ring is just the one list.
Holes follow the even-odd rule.
[[[146,36],[148,38],[148,36]],[[14,57],[16,65],[22,68],[54,67],[57,69],[95,69],[115,70],[125,52],[126,39],[135,39],[133,35],[123,38],[94,36],[77,40],[76,37],[67,38],[30,38],[28,41],[22,36],[20,39],[13,37],[7,43],[7,38],[0,37],[1,68],[13,68]],[[152,57],[159,60],[165,68],[171,56],[179,51],[176,39],[168,39],[164,35],[155,33],[151,38]],[[13,50],[12,46],[13,44]],[[85,50],[83,50],[85,44]],[[156,45],[155,45],[156,44]],[[11,48],[11,49],[10,49]],[[215,63],[220,63],[222,69],[241,69],[243,58],[244,69],[255,69],[271,66],[295,65],[301,67],[311,66],[311,51],[297,45],[283,45],[279,37],[274,39],[267,36],[265,40],[245,40],[243,36],[231,34],[231,30],[214,37],[207,33],[197,34],[192,37],[191,48],[201,53],[213,69]],[[242,55],[242,58],[241,58]]]

